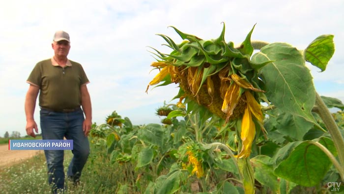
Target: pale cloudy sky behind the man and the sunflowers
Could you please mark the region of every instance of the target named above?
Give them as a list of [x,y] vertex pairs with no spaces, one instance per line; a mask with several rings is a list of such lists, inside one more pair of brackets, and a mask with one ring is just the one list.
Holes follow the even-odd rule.
[[[333,34],[336,51],[327,69],[310,65],[316,91],[344,101],[343,0],[0,0],[0,136],[26,135],[26,80],[34,65],[53,56],[53,35],[69,33],[70,60],[83,65],[90,83],[92,122],[116,111],[134,125],[159,123],[155,110],[177,94],[177,85],[145,89],[158,73],[148,46],[171,52],[157,33],[182,39],[168,26],[202,39],[240,44],[287,42],[303,50],[317,36]],[[172,101],[173,102],[173,101]],[[35,121],[39,133],[38,99]]]

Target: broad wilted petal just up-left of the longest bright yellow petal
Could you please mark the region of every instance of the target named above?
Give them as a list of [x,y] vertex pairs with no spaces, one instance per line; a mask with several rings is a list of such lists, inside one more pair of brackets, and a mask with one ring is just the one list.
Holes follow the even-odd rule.
[[222,112],[227,113],[228,117],[233,114],[233,110],[240,99],[240,87],[235,83],[231,84],[227,90],[224,102],[222,104]]

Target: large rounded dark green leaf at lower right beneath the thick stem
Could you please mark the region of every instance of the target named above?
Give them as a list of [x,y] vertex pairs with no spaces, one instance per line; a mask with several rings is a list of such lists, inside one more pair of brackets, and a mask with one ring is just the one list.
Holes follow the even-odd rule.
[[[332,150],[331,140],[322,139],[319,143]],[[333,144],[333,142],[332,142]],[[332,163],[327,155],[312,141],[304,141],[292,150],[286,160],[275,168],[275,175],[305,187],[318,184]]]

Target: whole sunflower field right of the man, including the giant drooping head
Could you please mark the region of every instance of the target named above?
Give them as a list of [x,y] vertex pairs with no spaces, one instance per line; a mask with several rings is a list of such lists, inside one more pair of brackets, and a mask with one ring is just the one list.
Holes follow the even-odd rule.
[[[132,125],[114,111],[94,125],[91,142],[123,166],[117,193],[344,193],[344,104],[319,96],[306,63],[321,71],[333,35],[304,50],[287,43],[238,46],[171,27],[176,43],[151,48],[150,86],[179,87],[176,104],[156,110],[162,124]],[[339,111],[330,112],[330,108]]]

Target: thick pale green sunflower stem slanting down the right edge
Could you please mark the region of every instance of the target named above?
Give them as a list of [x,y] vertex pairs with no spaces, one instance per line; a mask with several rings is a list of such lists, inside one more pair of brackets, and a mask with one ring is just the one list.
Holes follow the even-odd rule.
[[[329,131],[333,143],[338,152],[339,162],[341,164],[342,170],[344,170],[344,139],[339,130],[336,121],[332,117],[329,109],[327,108],[324,101],[321,99],[318,93],[315,94],[315,108],[313,109],[315,113],[317,113],[322,121],[324,122],[327,130]],[[344,177],[342,177],[343,179]]]

